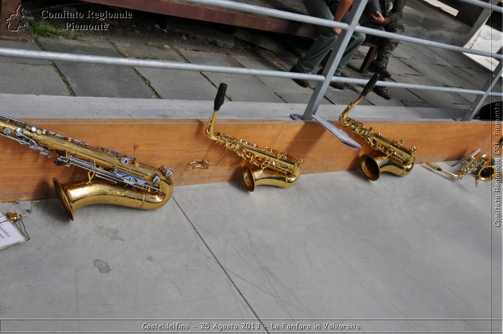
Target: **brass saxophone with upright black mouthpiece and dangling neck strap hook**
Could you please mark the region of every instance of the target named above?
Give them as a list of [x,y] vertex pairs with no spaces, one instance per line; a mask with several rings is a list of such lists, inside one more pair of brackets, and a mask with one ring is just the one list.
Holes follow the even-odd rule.
[[[261,147],[260,145],[237,139],[222,132],[214,132],[213,127],[218,110],[220,110],[225,101],[226,90],[227,85],[220,84],[215,97],[213,116],[209,119],[208,126],[206,127],[206,135],[213,139],[215,143],[225,146],[225,152],[227,152],[227,149],[230,149],[247,162],[259,167],[254,172],[250,171],[247,166],[243,166],[241,169],[244,185],[248,191],[254,191],[255,187],[259,185],[272,185],[280,188],[293,186],[300,177],[300,166],[304,163],[302,158],[287,155],[286,152],[280,152],[267,146]],[[225,154],[220,161],[224,157]],[[189,164],[192,165],[193,169],[208,169],[210,167],[209,161],[204,159],[203,161],[194,161]]]

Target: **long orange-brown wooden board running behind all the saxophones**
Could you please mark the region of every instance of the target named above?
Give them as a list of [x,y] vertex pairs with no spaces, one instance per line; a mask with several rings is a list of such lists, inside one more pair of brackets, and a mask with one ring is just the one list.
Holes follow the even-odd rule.
[[[224,147],[209,139],[204,130],[207,120],[28,120],[34,126],[49,129],[92,145],[104,146],[137,157],[153,166],[164,164],[173,169],[175,186],[240,179],[244,160],[234,152],[220,165],[209,170],[193,170],[188,162],[203,158],[217,163]],[[333,121],[338,127],[339,122]],[[416,162],[456,160],[481,147],[492,149],[491,122],[431,121],[372,122],[384,136],[404,140],[404,146],[417,147]],[[302,174],[357,169],[358,157],[372,153],[357,135],[363,149],[352,150],[314,121],[219,120],[218,132],[228,133],[260,145],[267,145],[290,155],[300,155],[305,163]],[[494,139],[493,139],[494,140]],[[87,180],[87,172],[56,166],[51,159],[21,146],[14,140],[0,138],[3,147],[3,187],[0,202],[54,197],[52,178],[63,183]]]

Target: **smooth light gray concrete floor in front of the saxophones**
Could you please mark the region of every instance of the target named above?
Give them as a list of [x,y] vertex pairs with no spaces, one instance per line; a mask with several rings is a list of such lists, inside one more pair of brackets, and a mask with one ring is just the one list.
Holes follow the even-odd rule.
[[[2,330],[141,331],[224,318],[277,332],[271,323],[283,321],[269,319],[286,318],[489,332],[491,312],[501,314],[494,185],[418,164],[377,182],[343,171],[254,193],[241,182],[179,186],[157,210],[92,205],[73,222],[57,199],[41,200],[24,219],[31,240],[2,250],[0,316],[138,320],[2,320]],[[0,203],[3,213],[29,207]]]

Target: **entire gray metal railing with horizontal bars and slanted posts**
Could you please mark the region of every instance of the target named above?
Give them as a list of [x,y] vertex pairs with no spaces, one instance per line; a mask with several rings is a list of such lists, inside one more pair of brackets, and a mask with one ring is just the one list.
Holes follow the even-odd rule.
[[[463,2],[476,5],[483,8],[488,8],[499,13],[503,13],[503,9],[494,5],[490,5],[478,0],[461,0]],[[188,63],[178,63],[178,62],[166,62],[159,60],[146,60],[146,59],[131,59],[131,58],[119,58],[119,57],[107,57],[107,56],[96,56],[96,55],[83,55],[83,54],[73,54],[73,53],[62,53],[62,52],[48,52],[48,51],[33,51],[24,49],[13,49],[13,48],[0,48],[0,56],[11,56],[20,58],[33,58],[33,59],[43,59],[43,60],[64,60],[71,62],[85,62],[85,63],[97,63],[97,64],[110,64],[110,65],[124,65],[124,66],[141,66],[141,67],[152,67],[152,68],[165,68],[165,69],[179,69],[179,70],[191,70],[191,71],[205,71],[205,72],[219,72],[228,74],[244,74],[244,75],[257,75],[257,76],[274,76],[274,77],[284,77],[284,78],[297,78],[297,79],[309,79],[318,81],[315,87],[314,93],[306,107],[306,110],[302,116],[291,115],[294,119],[310,120],[311,115],[316,113],[319,107],[322,97],[324,96],[330,81],[339,81],[346,84],[357,84],[364,86],[367,83],[365,79],[348,78],[348,77],[334,77],[337,65],[342,57],[346,45],[354,31],[363,32],[365,34],[370,34],[374,36],[381,36],[386,38],[391,38],[400,41],[407,41],[416,44],[422,44],[426,46],[432,46],[442,49],[447,49],[456,52],[465,52],[470,54],[476,54],[486,57],[492,57],[499,59],[499,63],[496,69],[491,73],[490,78],[487,80],[485,85],[481,90],[466,90],[455,87],[437,87],[437,86],[426,86],[426,85],[413,85],[405,84],[401,82],[377,82],[376,86],[388,86],[388,87],[400,87],[404,89],[417,89],[417,90],[433,90],[438,92],[453,92],[453,93],[466,93],[477,95],[475,101],[470,106],[463,120],[473,119],[475,113],[480,108],[481,104],[487,96],[503,97],[502,93],[490,92],[492,87],[494,87],[496,81],[503,73],[501,60],[503,55],[497,53],[490,53],[480,50],[468,49],[460,46],[454,46],[445,43],[439,43],[434,41],[429,41],[425,39],[399,35],[394,33],[382,32],[376,29],[361,27],[358,25],[358,19],[360,18],[365,5],[366,0],[356,0],[353,4],[353,9],[349,13],[347,22],[340,23],[330,20],[324,20],[319,18],[314,18],[306,15],[295,14],[280,10],[263,8],[260,6],[248,5],[237,3],[228,0],[191,0],[191,3],[210,5],[225,9],[237,10],[240,12],[253,13],[259,15],[266,15],[269,17],[294,20],[304,23],[310,23],[314,25],[322,25],[326,27],[341,28],[342,32],[334,45],[334,52],[331,53],[327,64],[324,67],[322,75],[318,74],[305,74],[305,73],[293,73],[286,71],[275,71],[275,70],[262,70],[253,68],[242,68],[242,67],[230,67],[230,66],[215,66],[215,65],[200,65],[200,64],[188,64]]]

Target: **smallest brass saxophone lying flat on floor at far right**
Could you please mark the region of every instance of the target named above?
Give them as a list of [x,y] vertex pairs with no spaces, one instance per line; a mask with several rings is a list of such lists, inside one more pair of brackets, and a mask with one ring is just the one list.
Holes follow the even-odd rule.
[[458,180],[463,179],[467,174],[473,175],[475,177],[475,186],[477,186],[478,181],[490,181],[496,177],[496,168],[492,165],[494,159],[487,154],[479,153],[473,155],[466,160],[461,169],[456,172],[456,174],[447,172],[439,167],[438,164],[427,162],[426,165],[433,168],[434,170],[444,172]]

